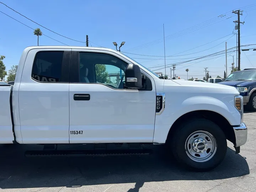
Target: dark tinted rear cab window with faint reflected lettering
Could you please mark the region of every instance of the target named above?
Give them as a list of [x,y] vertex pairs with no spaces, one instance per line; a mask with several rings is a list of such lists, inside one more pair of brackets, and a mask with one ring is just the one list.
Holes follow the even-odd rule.
[[33,63],[32,78],[41,82],[62,82],[64,52],[39,52]]

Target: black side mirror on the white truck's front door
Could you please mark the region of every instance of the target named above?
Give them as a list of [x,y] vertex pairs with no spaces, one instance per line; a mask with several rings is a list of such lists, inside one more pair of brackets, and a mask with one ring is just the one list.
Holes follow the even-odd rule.
[[138,65],[128,64],[124,73],[126,87],[131,89],[142,88],[142,75]]

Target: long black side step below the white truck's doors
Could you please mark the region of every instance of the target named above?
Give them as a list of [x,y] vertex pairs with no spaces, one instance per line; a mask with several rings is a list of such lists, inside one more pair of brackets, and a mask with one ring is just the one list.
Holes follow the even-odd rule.
[[40,150],[26,151],[26,157],[48,157],[48,156],[131,156],[149,155],[150,149],[137,150]]

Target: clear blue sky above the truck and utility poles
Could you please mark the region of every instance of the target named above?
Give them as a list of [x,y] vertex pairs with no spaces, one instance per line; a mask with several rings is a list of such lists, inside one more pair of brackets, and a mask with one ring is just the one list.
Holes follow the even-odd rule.
[[[40,25],[77,41],[86,41],[89,46],[115,49],[112,42],[121,44],[121,52],[143,64],[154,72],[165,73],[164,31],[166,74],[171,76],[169,66],[177,63],[174,73],[181,79],[203,78],[204,68],[209,75],[223,78],[225,54],[186,62],[236,46],[235,23],[237,14],[232,10],[241,9],[241,46],[256,44],[256,2],[255,0],[0,0]],[[6,6],[0,4],[0,11],[35,29],[40,28],[46,36],[39,37],[42,46],[85,46],[33,23]],[[9,70],[17,65],[23,49],[37,45],[33,30],[0,12],[0,55],[5,55],[4,64]],[[164,29],[163,30],[163,24]],[[53,40],[49,37],[57,40]],[[218,39],[218,40],[217,40]],[[61,43],[60,43],[61,42]],[[64,44],[63,44],[64,43]],[[256,68],[254,46],[241,51],[241,69]],[[230,49],[228,51],[232,51]],[[132,53],[132,54],[131,54]],[[222,52],[221,52],[222,53]],[[228,53],[228,75],[231,63],[236,66],[236,52]],[[151,56],[148,56],[151,55]],[[152,57],[162,56],[162,57]],[[167,57],[172,56],[172,57]],[[180,63],[186,62],[186,63]]]

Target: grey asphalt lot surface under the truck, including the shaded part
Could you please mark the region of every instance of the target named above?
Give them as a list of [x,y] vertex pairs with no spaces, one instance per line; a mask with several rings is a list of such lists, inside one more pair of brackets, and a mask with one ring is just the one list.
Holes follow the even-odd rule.
[[0,188],[8,192],[255,191],[256,113],[245,113],[247,143],[210,172],[190,172],[155,149],[149,156],[26,158],[41,146],[0,146]]

